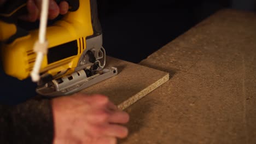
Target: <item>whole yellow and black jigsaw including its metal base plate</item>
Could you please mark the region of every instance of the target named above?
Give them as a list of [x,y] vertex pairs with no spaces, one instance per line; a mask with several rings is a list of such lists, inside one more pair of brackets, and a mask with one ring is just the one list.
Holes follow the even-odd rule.
[[[36,92],[48,97],[73,94],[118,74],[115,67],[105,68],[106,51],[96,0],[65,1],[68,13],[46,27],[48,47],[40,63]],[[39,29],[27,30],[17,22],[20,15],[27,13],[26,2],[6,1],[0,9],[3,69],[19,80],[31,77],[38,58],[33,47]]]

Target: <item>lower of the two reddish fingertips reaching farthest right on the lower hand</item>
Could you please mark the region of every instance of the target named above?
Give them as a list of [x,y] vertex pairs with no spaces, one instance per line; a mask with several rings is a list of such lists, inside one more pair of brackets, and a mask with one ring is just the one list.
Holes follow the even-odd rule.
[[114,136],[119,138],[125,138],[128,135],[128,129],[117,124],[109,124],[105,128],[104,134],[108,136]]

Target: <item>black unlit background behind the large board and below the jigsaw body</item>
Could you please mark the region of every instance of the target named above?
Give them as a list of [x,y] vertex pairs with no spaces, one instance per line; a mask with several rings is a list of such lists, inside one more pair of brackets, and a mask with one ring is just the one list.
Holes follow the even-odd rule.
[[[191,27],[223,8],[255,10],[254,0],[118,1],[98,0],[98,15],[107,55],[138,63]],[[4,104],[36,95],[36,85],[8,77],[1,70]]]

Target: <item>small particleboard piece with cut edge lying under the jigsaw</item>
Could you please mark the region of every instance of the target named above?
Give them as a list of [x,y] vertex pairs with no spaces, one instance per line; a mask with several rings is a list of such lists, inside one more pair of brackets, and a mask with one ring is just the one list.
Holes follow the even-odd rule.
[[107,57],[106,67],[117,67],[118,75],[84,89],[86,94],[104,94],[124,110],[169,80],[169,74],[142,65]]

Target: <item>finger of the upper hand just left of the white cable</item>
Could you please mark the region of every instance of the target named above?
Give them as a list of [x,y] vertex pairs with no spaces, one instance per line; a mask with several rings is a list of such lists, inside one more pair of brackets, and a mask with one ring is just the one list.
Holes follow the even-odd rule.
[[33,0],[27,1],[27,11],[28,11],[27,15],[20,16],[21,20],[34,22],[38,19],[39,9]]

